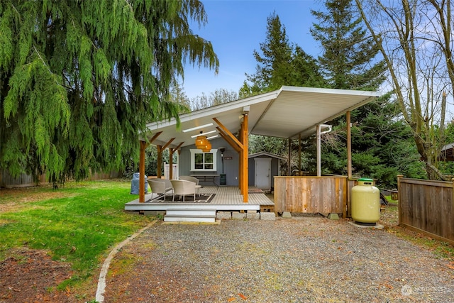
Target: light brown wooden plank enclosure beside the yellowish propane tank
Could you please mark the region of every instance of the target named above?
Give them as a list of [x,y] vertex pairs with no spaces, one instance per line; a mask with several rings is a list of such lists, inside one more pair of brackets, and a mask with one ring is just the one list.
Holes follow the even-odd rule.
[[337,213],[345,216],[347,177],[275,177],[275,212]]

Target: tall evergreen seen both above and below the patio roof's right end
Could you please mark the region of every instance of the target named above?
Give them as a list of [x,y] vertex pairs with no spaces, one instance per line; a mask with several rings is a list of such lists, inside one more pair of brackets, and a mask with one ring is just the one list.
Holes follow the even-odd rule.
[[[326,86],[334,89],[377,90],[386,67],[376,59],[378,48],[355,16],[350,0],[326,1],[326,11],[312,11],[319,21],[311,28],[321,43],[318,58]],[[374,177],[383,186],[393,187],[398,173],[421,175],[411,133],[400,119],[399,107],[390,101],[391,94],[352,111],[353,174]],[[332,121],[333,132],[323,144],[323,172],[346,173],[345,118]],[[315,153],[314,153],[315,155]],[[403,161],[405,160],[405,161]],[[411,162],[409,162],[411,160]],[[405,163],[406,165],[402,165]],[[314,168],[312,168],[314,169]],[[416,177],[416,176],[415,176]]]

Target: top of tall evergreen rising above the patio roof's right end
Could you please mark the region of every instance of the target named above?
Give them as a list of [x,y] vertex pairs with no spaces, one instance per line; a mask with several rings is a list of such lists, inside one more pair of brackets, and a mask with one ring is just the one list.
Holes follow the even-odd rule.
[[311,11],[319,23],[311,34],[321,43],[318,62],[329,88],[376,90],[384,82],[384,61],[379,49],[353,11],[351,0],[330,0],[326,11]]

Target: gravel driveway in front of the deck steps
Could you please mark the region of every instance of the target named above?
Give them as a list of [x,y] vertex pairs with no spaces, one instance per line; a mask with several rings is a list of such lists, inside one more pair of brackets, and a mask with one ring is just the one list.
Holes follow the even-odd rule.
[[453,268],[343,219],[155,224],[116,255],[104,302],[454,302]]

